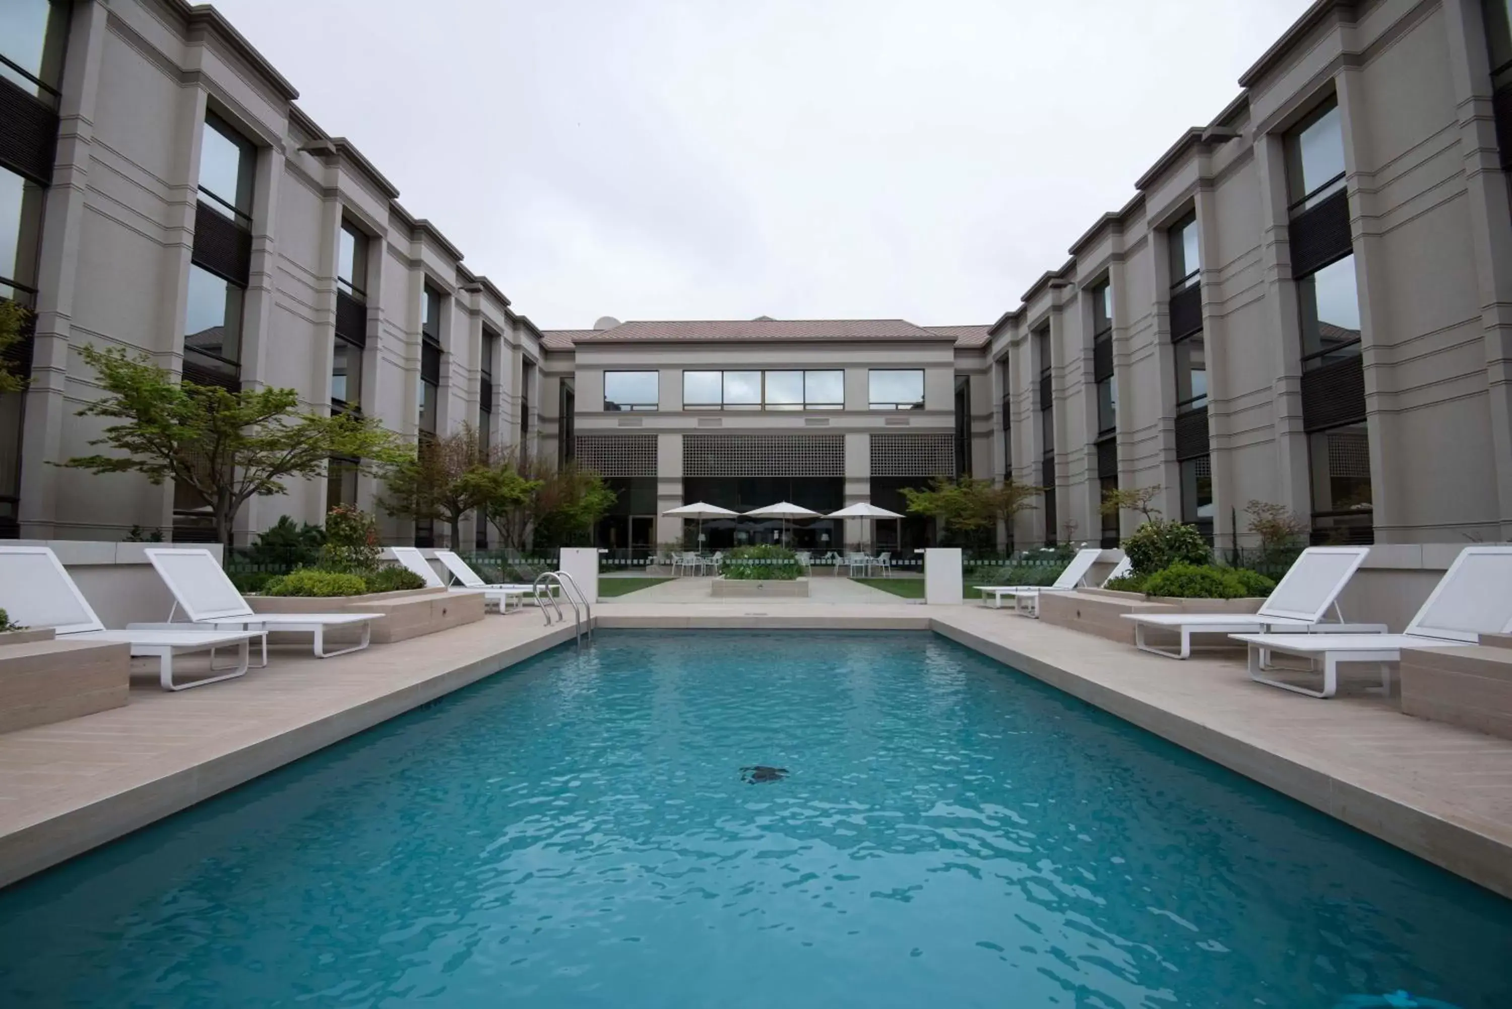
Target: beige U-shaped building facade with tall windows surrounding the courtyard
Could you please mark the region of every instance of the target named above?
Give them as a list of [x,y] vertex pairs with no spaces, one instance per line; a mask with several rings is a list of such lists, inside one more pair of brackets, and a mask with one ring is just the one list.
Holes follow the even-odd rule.
[[[576,460],[620,495],[599,531],[614,549],[680,542],[662,513],[691,501],[900,508],[936,475],[1045,487],[999,531],[1018,548],[1117,542],[1137,516],[1099,513],[1114,487],[1158,487],[1219,546],[1253,542],[1252,501],[1318,542],[1512,539],[1506,0],[1320,0],[995,324],[546,333],[213,9],[21,8],[35,30],[0,42],[0,113],[39,126],[0,141],[0,295],[36,322],[30,387],[0,398],[0,532],[204,531],[171,487],[53,466],[97,433],[74,416],[97,395],[92,343],[405,436],[466,421]],[[239,528],[376,493],[336,467]],[[907,551],[936,532],[801,536]]]

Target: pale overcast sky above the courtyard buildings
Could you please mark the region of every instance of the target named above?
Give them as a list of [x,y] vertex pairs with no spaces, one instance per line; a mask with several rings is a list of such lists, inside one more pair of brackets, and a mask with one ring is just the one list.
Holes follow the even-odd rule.
[[1308,0],[216,6],[516,310],[587,328],[992,322]]

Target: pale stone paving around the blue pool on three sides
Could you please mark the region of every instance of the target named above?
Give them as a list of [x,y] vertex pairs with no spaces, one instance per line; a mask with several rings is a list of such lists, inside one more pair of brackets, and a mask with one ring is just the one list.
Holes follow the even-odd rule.
[[[1237,658],[1176,663],[980,605],[647,595],[596,605],[599,625],[934,629],[1512,897],[1512,740],[1379,697],[1263,687]],[[266,670],[183,694],[133,688],[125,708],[3,734],[0,885],[570,637],[526,608],[333,660],[275,655]]]

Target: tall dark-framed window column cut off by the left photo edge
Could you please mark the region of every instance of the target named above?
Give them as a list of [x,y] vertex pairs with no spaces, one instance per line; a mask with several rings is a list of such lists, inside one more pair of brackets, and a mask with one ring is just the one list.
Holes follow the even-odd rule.
[[[36,253],[42,203],[53,179],[57,104],[68,44],[68,8],[59,0],[0,3],[0,77],[20,88],[0,123],[6,157],[0,166],[0,298],[36,307]],[[32,369],[30,321],[23,339],[5,351],[11,371]],[[21,421],[24,393],[0,393],[0,539],[20,534]]]

